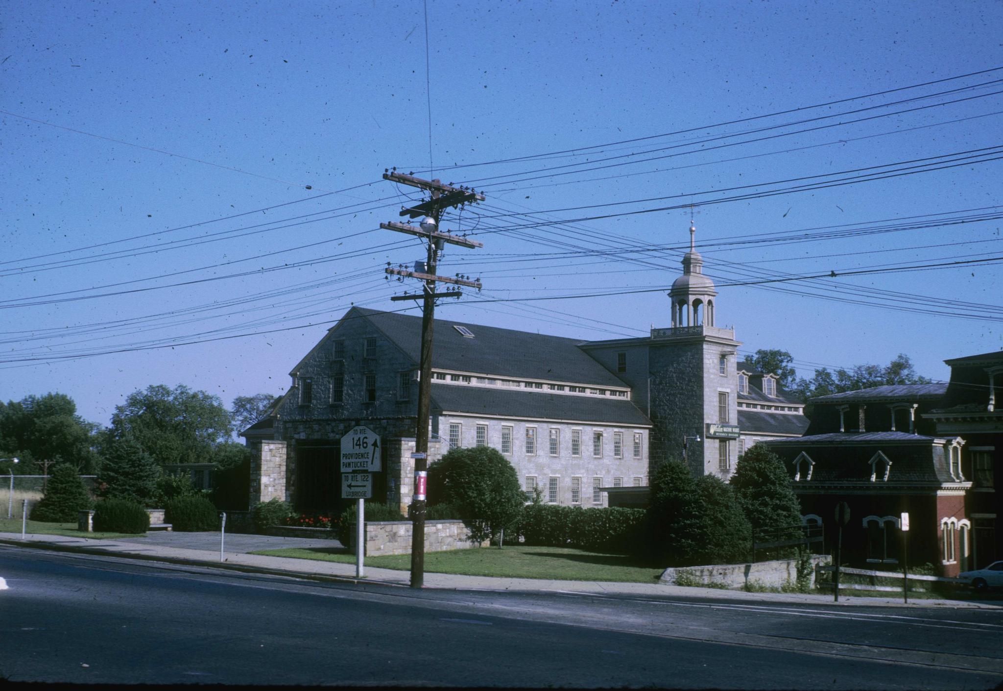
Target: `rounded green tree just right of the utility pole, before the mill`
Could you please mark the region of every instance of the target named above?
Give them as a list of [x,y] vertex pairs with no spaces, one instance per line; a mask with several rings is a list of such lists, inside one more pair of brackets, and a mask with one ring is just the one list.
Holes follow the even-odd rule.
[[512,525],[523,511],[526,495],[512,463],[497,449],[477,446],[450,449],[432,463],[428,475],[440,487],[439,503],[455,506],[480,542]]

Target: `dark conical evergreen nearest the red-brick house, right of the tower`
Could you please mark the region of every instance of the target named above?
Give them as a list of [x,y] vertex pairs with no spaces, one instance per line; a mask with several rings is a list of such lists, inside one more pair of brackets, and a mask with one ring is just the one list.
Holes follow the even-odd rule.
[[738,503],[755,529],[801,524],[801,505],[790,489],[790,476],[779,456],[755,444],[735,465],[731,476]]

